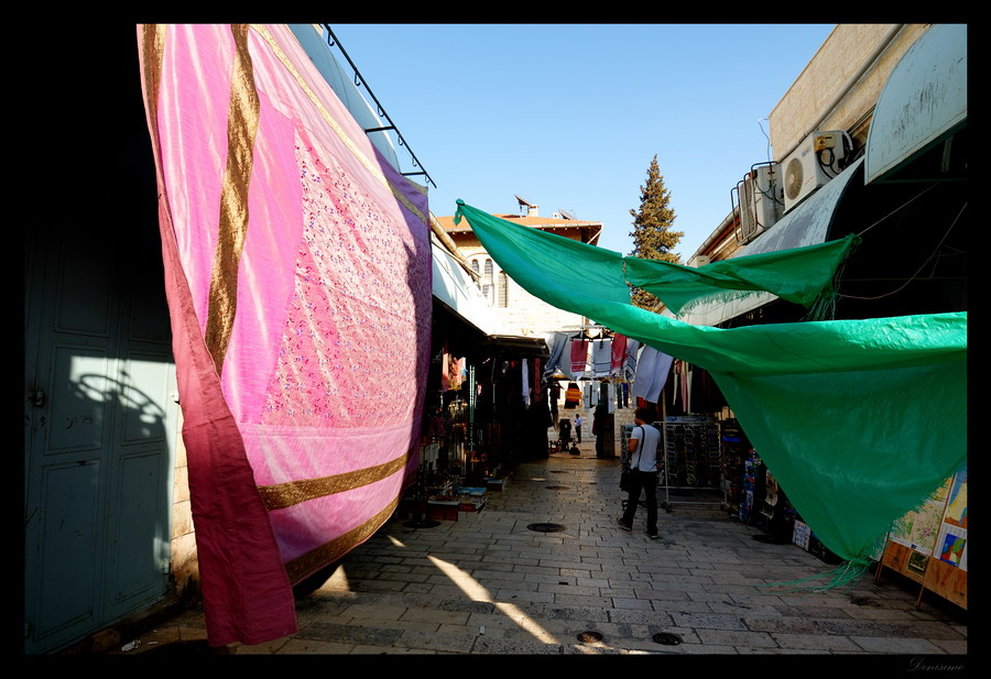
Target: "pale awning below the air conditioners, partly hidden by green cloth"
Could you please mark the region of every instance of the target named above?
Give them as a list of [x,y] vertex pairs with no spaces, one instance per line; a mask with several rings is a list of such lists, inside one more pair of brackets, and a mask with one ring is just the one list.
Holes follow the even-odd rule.
[[[778,252],[826,242],[836,207],[850,185],[850,179],[861,172],[862,165],[862,158],[854,162],[839,176],[809,196],[802,205],[785,215],[771,229],[743,248],[737,256]],[[693,326],[716,326],[775,299],[777,297],[771,293],[751,293],[737,299],[712,300],[696,305],[676,318]],[[674,317],[669,311],[665,311],[664,315]]]

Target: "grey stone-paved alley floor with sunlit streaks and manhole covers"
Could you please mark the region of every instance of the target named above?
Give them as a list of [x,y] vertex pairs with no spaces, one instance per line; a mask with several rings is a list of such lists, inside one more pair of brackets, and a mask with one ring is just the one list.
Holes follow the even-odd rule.
[[620,530],[619,460],[581,448],[520,464],[482,512],[459,513],[467,518],[393,518],[300,594],[294,636],[207,649],[203,613],[190,610],[128,653],[198,643],[237,655],[876,654],[906,656],[906,668],[967,653],[966,612],[934,594],[916,610],[917,589],[896,576],[813,594],[760,587],[831,567],[754,540],[760,530],[718,497],[669,496],[657,540],[642,507],[633,532]]

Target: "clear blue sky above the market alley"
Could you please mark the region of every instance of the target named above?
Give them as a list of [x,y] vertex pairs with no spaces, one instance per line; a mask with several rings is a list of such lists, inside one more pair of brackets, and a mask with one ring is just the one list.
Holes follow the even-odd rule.
[[[431,210],[605,224],[629,253],[654,154],[690,256],[772,158],[764,120],[835,24],[330,24],[402,132]],[[338,53],[335,53],[337,56]],[[400,150],[402,169],[415,169]],[[414,177],[416,178],[416,177]],[[422,178],[421,178],[422,180]]]

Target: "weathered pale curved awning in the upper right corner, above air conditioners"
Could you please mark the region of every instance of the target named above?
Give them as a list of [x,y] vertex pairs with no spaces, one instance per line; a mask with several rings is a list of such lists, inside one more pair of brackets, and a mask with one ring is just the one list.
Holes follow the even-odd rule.
[[867,142],[864,182],[899,171],[967,122],[967,25],[934,25],[895,66]]

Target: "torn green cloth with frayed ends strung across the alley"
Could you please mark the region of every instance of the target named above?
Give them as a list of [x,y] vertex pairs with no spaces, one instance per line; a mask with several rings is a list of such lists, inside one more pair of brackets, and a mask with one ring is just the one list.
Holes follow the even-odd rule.
[[516,283],[712,375],[754,449],[816,536],[865,565],[891,523],[966,459],[967,314],[720,329],[630,303],[629,284],[682,307],[727,291],[804,306],[831,294],[852,237],[691,270],[624,258],[458,200]]

